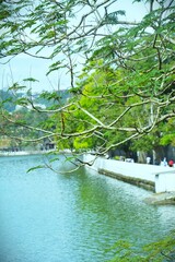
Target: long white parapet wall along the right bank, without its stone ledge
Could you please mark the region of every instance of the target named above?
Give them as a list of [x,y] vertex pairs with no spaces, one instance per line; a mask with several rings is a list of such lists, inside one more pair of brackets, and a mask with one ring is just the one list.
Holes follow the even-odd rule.
[[[132,179],[140,181],[139,186],[141,184],[141,181],[148,181],[148,183],[152,182],[155,193],[175,191],[174,167],[106,159],[105,157],[96,157],[91,154],[85,154],[83,160],[91,163],[91,168],[98,172],[105,174],[106,171],[106,174],[116,174],[116,178],[117,175],[121,175],[125,181],[127,181],[125,178],[130,178],[128,179],[128,182],[129,180],[132,181]],[[137,182],[135,184],[137,184]]]

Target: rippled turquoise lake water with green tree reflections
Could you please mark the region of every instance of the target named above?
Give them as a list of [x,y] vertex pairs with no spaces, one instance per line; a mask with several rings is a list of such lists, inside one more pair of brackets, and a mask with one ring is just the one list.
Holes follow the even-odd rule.
[[0,261],[102,262],[118,239],[139,246],[173,229],[175,207],[143,203],[150,192],[83,169],[26,174],[42,163],[0,158]]

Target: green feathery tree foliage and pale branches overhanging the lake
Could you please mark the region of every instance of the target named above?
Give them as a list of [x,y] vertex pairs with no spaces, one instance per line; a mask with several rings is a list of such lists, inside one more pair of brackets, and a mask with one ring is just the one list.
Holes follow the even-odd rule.
[[[48,117],[38,127],[27,123],[38,132],[31,140],[49,138],[58,148],[104,154],[165,123],[168,131],[162,128],[161,143],[174,141],[174,1],[139,2],[148,9],[139,22],[125,20],[125,11],[113,0],[0,2],[2,61],[26,53],[49,60],[47,74],[66,69],[70,75],[71,98],[63,105],[55,92],[45,93],[45,98],[51,95],[58,102],[46,109],[36,108],[27,92],[16,100]],[[11,86],[14,93],[21,88],[25,84]],[[1,109],[4,115],[3,104]],[[7,120],[16,126],[19,120],[12,118]]]

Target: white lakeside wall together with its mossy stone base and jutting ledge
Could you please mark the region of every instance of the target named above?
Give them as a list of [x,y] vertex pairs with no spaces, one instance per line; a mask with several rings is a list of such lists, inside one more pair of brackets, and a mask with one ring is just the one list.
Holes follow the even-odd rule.
[[174,167],[125,163],[102,157],[95,158],[89,154],[84,155],[83,160],[92,164],[91,166],[85,166],[86,168],[93,169],[100,175],[152,191],[152,194],[144,200],[145,203],[175,205]]

